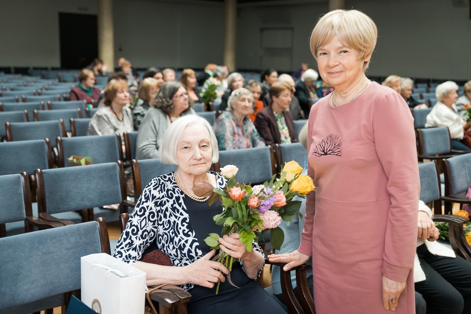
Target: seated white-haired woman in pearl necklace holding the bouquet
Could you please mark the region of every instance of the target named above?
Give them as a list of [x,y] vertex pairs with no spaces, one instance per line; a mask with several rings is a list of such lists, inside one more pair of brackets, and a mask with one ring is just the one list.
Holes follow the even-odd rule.
[[[189,314],[285,313],[253,280],[264,264],[256,242],[248,252],[237,233],[219,238],[220,249],[238,260],[231,271],[237,287],[226,280],[227,267],[211,261],[215,250],[204,239],[220,233],[212,217],[223,208],[219,201],[209,206],[209,197],[197,196],[192,190],[197,183],[219,189],[227,184],[219,173],[209,171],[219,158],[209,123],[197,115],[177,120],[165,133],[158,157],[163,163],[177,165],[177,170],[154,178],[144,188],[113,256],[144,271],[148,286],[172,284],[188,290]],[[171,266],[140,261],[153,244],[170,258]]]

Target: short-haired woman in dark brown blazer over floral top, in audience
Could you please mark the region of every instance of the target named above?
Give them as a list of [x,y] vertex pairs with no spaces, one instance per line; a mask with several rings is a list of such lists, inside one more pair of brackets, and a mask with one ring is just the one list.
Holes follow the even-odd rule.
[[255,117],[255,127],[266,145],[297,142],[293,117],[289,112],[292,89],[286,82],[274,82],[270,90],[271,105]]

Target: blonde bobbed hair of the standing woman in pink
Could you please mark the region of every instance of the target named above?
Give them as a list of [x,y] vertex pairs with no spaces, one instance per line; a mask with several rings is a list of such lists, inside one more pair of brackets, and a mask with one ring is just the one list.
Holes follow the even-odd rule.
[[334,10],[325,14],[314,26],[311,34],[311,53],[317,60],[317,51],[337,36],[344,45],[360,52],[359,60],[367,58],[363,69],[376,46],[378,29],[373,20],[358,10]]

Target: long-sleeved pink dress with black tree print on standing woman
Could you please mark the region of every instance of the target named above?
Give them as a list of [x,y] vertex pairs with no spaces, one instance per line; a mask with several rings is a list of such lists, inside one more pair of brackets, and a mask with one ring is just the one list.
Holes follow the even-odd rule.
[[316,313],[392,313],[383,308],[384,275],[407,280],[395,313],[413,314],[420,183],[411,112],[375,82],[345,105],[331,106],[331,95],[309,115],[316,189],[299,246],[313,257]]

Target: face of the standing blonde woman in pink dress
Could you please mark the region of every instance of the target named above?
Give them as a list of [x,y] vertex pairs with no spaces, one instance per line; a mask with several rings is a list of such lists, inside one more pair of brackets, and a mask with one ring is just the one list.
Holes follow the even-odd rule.
[[335,89],[348,90],[361,76],[369,56],[359,59],[360,52],[341,43],[337,36],[317,50],[320,76]]

